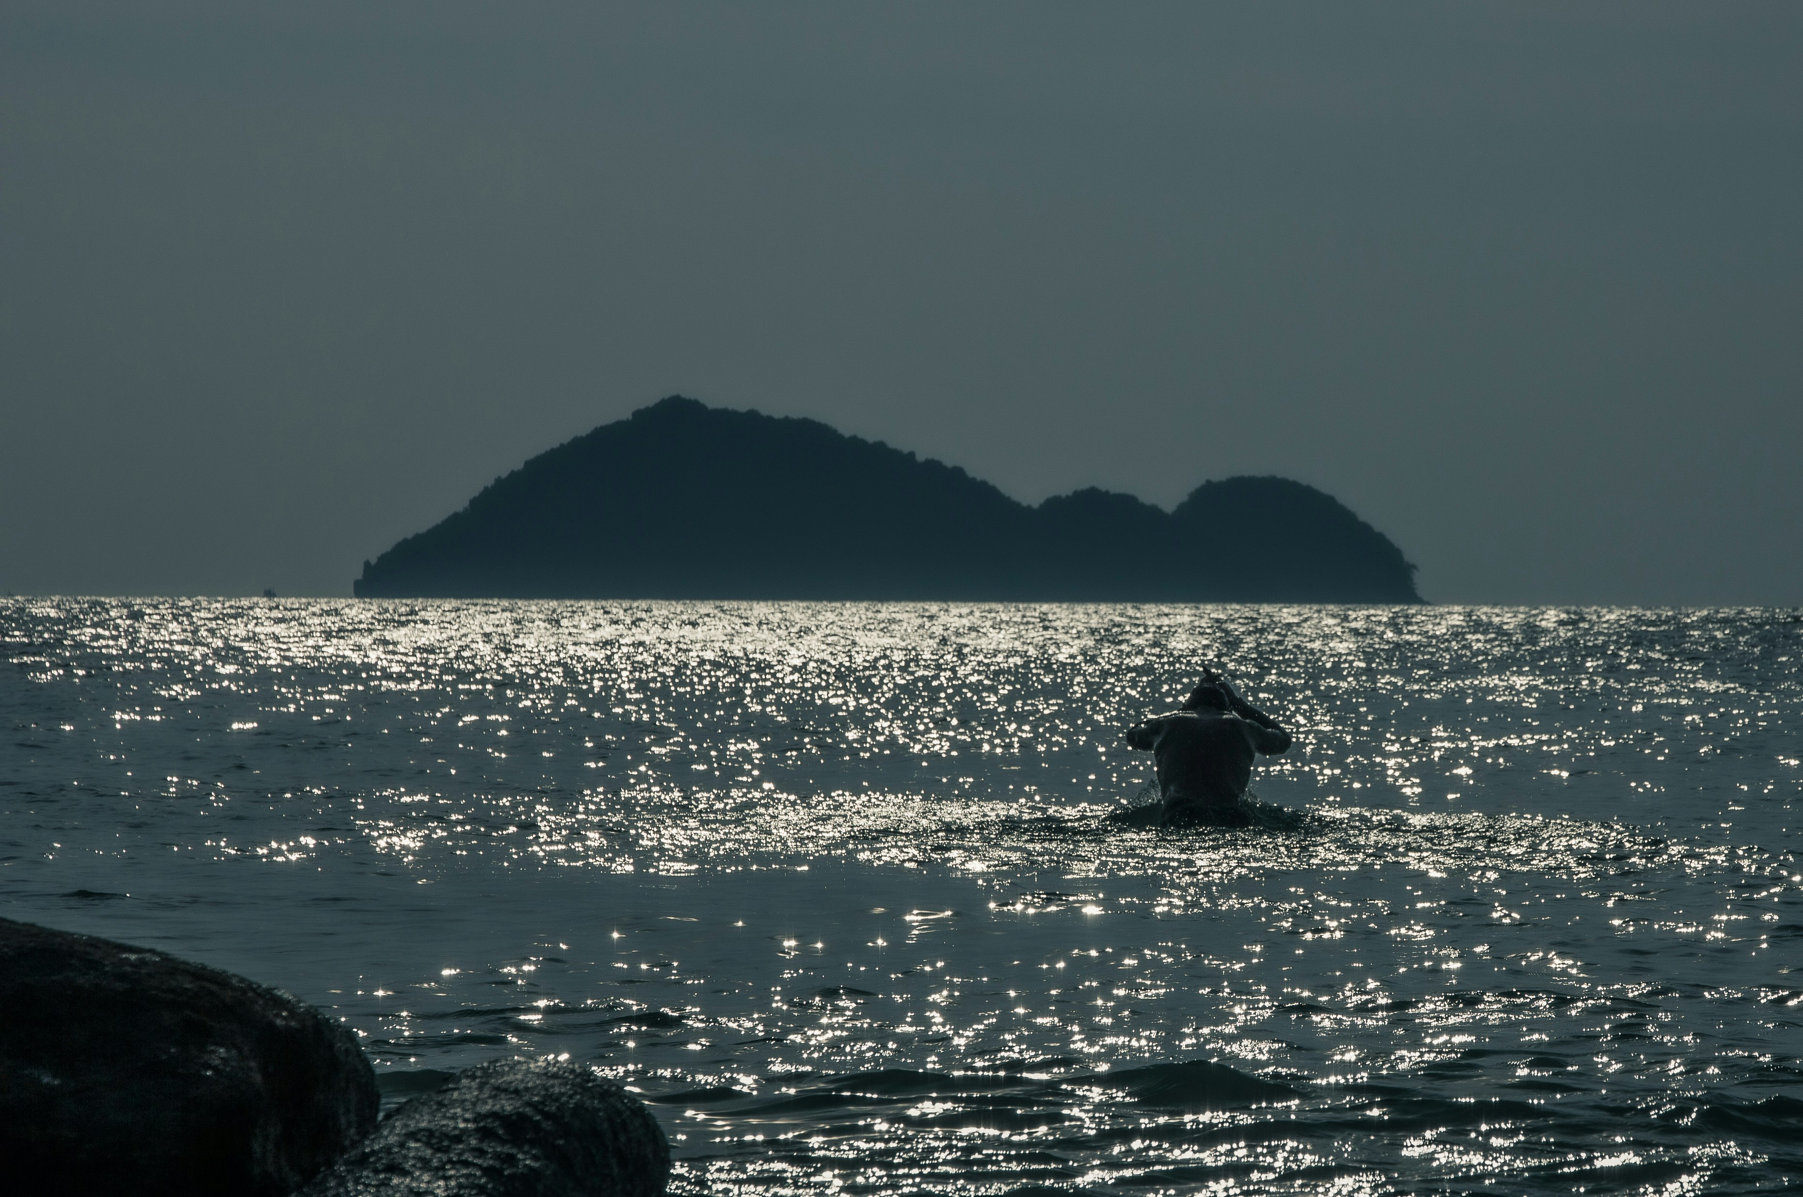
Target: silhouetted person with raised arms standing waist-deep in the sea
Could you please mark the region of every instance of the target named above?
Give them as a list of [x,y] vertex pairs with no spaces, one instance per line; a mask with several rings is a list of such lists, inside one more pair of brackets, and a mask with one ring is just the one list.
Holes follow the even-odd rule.
[[[1127,730],[1127,743],[1154,754],[1163,802],[1156,822],[1165,827],[1244,827],[1251,822],[1242,799],[1251,781],[1253,755],[1289,748],[1289,732],[1210,671],[1183,708]],[[1147,811],[1129,822],[1154,822]]]

